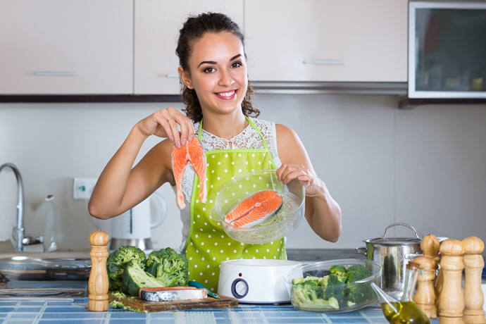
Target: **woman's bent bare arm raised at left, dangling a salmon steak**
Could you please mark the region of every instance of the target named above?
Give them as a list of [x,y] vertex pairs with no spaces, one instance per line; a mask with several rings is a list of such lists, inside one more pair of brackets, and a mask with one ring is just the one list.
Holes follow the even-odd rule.
[[[180,132],[177,125],[180,125]],[[157,144],[132,168],[150,135],[170,139]],[[173,108],[162,109],[140,120],[99,176],[89,199],[89,213],[100,219],[118,216],[149,197],[163,183],[174,183],[170,163],[172,147],[184,145],[193,135],[190,120]]]

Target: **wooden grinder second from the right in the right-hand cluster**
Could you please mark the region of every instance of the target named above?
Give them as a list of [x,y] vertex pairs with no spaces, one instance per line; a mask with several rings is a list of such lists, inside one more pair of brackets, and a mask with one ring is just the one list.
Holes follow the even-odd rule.
[[464,244],[457,239],[446,239],[440,244],[440,268],[444,276],[439,296],[439,323],[462,322],[464,295],[461,286],[464,269]]

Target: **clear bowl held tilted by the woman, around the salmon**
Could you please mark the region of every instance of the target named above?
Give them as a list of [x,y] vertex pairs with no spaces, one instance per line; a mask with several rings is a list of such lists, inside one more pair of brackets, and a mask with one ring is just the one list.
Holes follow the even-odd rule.
[[[282,207],[275,216],[251,228],[241,228],[225,221],[235,206],[255,192],[272,189],[282,196]],[[305,189],[297,179],[283,185],[275,170],[258,170],[241,175],[221,189],[211,218],[219,220],[226,234],[239,242],[263,244],[285,237],[295,230],[304,218]]]

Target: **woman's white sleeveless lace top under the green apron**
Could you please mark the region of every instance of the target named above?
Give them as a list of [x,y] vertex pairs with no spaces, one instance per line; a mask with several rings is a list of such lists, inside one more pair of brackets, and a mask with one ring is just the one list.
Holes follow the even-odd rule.
[[[277,132],[275,130],[275,123],[270,123],[266,120],[259,120],[256,118],[251,118],[250,120],[255,123],[258,130],[260,130],[261,135],[265,139],[265,142],[270,149],[270,154],[272,154],[273,161],[275,162],[275,167],[279,168],[282,165],[280,158],[278,157],[277,151]],[[194,125],[196,130],[195,136],[199,136],[199,123]],[[201,144],[204,151],[215,151],[218,149],[263,149],[265,146],[261,140],[258,132],[248,125],[242,132],[240,132],[235,137],[231,139],[225,139],[217,137],[206,130],[202,130],[201,134]],[[189,235],[190,221],[191,221],[191,206],[190,201],[192,197],[192,186],[194,185],[194,169],[189,163],[187,169],[182,177],[182,192],[184,194],[184,200],[186,207],[180,211],[180,219],[182,220],[182,244],[180,246],[180,251],[184,249],[184,244]],[[172,187],[174,192],[176,187]]]

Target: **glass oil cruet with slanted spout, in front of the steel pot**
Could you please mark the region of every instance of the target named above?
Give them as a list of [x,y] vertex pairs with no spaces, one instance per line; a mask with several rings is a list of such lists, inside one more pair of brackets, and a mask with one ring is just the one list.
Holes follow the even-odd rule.
[[418,264],[409,262],[406,265],[404,294],[397,301],[388,296],[377,285],[372,283],[385,318],[392,324],[430,324],[429,318],[413,301],[413,292],[417,284]]

